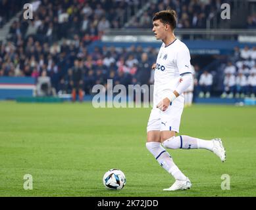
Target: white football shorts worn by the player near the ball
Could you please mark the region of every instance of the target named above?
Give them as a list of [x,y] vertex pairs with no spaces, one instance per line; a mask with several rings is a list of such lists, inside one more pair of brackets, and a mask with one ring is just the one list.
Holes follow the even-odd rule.
[[147,123],[148,131],[176,131],[180,129],[180,119],[184,108],[184,95],[178,96],[170,106],[163,112],[156,107],[151,110]]

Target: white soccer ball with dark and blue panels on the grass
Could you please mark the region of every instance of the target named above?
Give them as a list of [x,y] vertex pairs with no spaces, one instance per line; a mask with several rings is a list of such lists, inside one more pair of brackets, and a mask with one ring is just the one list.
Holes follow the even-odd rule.
[[121,190],[126,184],[125,175],[119,169],[110,169],[103,176],[103,184],[108,190]]

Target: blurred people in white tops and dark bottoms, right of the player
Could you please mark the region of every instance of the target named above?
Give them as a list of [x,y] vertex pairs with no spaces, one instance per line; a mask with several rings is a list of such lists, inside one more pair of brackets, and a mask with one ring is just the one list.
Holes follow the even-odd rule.
[[[222,98],[244,98],[256,95],[256,47],[234,47],[234,54],[228,57],[223,68]],[[214,77],[204,71],[199,76],[199,97],[209,98],[213,89]]]

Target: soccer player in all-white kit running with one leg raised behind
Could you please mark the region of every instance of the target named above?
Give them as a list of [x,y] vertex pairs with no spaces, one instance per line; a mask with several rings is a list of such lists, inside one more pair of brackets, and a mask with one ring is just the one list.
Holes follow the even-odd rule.
[[[175,165],[165,148],[197,149],[214,152],[221,161],[226,155],[220,138],[203,140],[177,136],[184,108],[184,91],[193,81],[190,68],[190,51],[174,35],[175,11],[157,12],[153,17],[153,32],[163,44],[159,50],[154,76],[153,108],[147,123],[146,147],[159,164],[176,179],[164,190],[186,190],[191,188],[190,179]],[[164,148],[165,147],[165,148]]]

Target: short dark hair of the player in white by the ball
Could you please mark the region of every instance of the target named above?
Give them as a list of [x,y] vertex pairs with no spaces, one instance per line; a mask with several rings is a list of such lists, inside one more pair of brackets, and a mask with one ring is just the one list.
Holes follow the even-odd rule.
[[168,24],[172,27],[172,30],[176,28],[176,12],[174,10],[166,10],[155,13],[153,21],[160,20],[163,24]]

